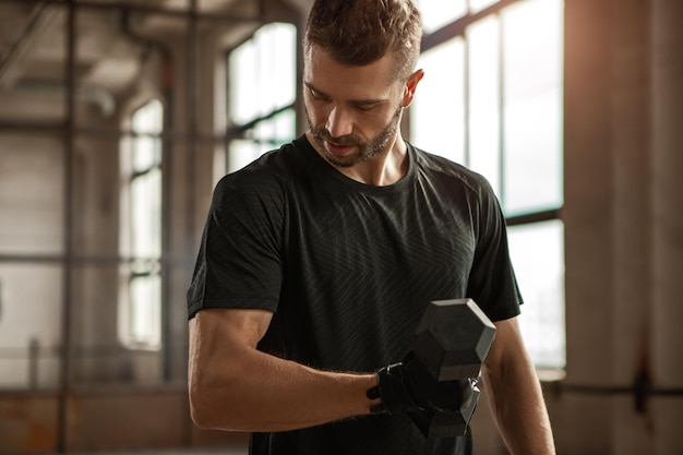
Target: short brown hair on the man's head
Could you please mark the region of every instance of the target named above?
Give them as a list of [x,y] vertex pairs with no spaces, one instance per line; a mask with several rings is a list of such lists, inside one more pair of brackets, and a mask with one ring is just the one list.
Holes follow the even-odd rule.
[[307,23],[304,50],[320,46],[339,63],[370,64],[387,53],[397,76],[417,65],[422,19],[411,0],[315,0]]

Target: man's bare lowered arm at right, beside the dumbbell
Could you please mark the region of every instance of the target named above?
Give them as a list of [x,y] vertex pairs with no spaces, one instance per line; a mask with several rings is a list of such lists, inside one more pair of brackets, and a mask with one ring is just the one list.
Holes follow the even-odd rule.
[[512,454],[555,453],[540,383],[524,347],[517,319],[495,323],[495,340],[482,370],[489,407]]

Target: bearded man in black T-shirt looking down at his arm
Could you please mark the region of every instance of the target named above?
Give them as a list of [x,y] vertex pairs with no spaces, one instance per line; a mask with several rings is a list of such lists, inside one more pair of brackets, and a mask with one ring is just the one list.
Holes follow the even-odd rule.
[[402,363],[427,303],[464,297],[496,325],[482,379],[505,443],[554,453],[491,188],[399,132],[420,39],[409,0],[315,1],[309,131],[216,187],[188,291],[191,411],[252,432],[252,454],[471,453],[469,431],[412,424],[432,385]]

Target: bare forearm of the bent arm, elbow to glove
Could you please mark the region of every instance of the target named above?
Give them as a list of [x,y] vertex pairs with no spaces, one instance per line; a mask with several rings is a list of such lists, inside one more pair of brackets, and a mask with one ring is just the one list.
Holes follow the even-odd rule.
[[[251,364],[249,364],[251,363]],[[369,414],[374,375],[313,370],[259,352],[240,378],[218,375],[191,393],[195,422],[232,431],[288,431]]]

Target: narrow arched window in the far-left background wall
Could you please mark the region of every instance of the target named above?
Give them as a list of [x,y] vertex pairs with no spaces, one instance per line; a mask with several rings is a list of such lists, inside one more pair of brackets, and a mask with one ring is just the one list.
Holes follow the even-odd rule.
[[119,339],[131,348],[161,344],[163,106],[152,100],[131,117],[132,137],[121,149],[121,299]]

